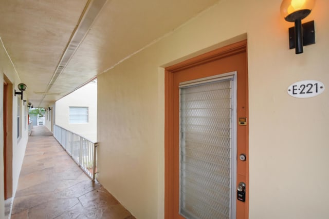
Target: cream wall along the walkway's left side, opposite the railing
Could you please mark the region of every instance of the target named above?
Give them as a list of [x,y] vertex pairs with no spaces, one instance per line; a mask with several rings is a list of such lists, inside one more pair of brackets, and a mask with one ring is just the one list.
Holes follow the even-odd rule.
[[[1,93],[3,93],[3,84],[4,84],[4,75],[7,76],[9,81],[13,84],[12,91],[9,91],[8,95],[14,95],[14,89],[17,90],[17,85],[21,83],[19,76],[14,70],[14,67],[9,59],[8,54],[4,49],[4,45],[2,41],[0,41],[0,89]],[[25,93],[26,94],[26,93]],[[8,136],[8,138],[12,138],[12,140],[8,140],[9,142],[12,141],[12,190],[13,195],[17,189],[17,183],[21,172],[21,167],[23,163],[25,148],[28,140],[28,128],[24,127],[24,111],[26,106],[22,103],[22,115],[21,115],[21,138],[17,140],[17,98],[21,98],[20,95],[16,95],[12,97],[12,135]],[[24,95],[24,99],[27,96]],[[27,117],[26,117],[27,118]],[[8,118],[7,118],[8,120]],[[0,95],[0,151],[4,150],[4,127],[3,127],[3,95]],[[0,153],[0,218],[4,218],[4,156],[3,152]]]

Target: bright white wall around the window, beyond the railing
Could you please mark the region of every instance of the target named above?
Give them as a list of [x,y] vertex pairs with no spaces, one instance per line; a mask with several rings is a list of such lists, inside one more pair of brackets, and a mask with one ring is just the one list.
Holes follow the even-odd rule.
[[[88,107],[88,123],[69,124],[69,107]],[[97,84],[89,83],[56,102],[55,124],[97,142]]]

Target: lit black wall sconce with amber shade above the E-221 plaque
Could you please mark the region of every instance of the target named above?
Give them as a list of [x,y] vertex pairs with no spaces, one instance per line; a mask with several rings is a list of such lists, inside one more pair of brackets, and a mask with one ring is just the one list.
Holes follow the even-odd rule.
[[289,28],[289,48],[296,54],[303,53],[303,46],[315,44],[314,21],[302,25],[302,19],[312,11],[315,0],[283,0],[280,11],[287,22],[295,22]]

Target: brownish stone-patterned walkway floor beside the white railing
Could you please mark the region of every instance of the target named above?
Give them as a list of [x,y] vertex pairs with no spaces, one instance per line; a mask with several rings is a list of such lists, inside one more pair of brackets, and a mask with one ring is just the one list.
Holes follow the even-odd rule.
[[44,126],[34,126],[29,136],[11,218],[135,219]]

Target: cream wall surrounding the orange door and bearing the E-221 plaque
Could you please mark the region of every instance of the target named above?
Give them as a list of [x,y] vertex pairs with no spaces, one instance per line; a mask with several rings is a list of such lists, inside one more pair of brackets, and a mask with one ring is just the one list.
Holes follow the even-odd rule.
[[[136,218],[163,218],[161,67],[246,36],[249,218],[327,217],[329,2],[318,0],[305,19],[315,20],[316,44],[299,55],[288,49],[287,29],[293,24],[280,16],[280,4],[221,1],[98,76],[98,180]],[[289,96],[287,87],[304,79],[327,88],[313,98]]]

